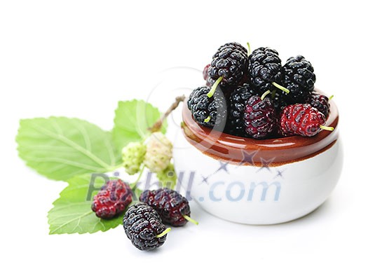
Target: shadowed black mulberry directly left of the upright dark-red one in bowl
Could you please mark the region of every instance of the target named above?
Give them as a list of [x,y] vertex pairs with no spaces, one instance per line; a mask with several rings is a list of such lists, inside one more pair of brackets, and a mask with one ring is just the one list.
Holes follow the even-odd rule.
[[226,121],[226,132],[239,137],[247,137],[245,133],[245,104],[257,92],[249,84],[238,86],[229,97],[229,113]]

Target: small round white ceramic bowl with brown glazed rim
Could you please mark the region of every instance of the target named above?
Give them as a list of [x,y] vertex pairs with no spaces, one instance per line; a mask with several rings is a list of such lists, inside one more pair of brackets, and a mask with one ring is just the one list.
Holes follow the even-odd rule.
[[329,197],[343,153],[334,102],[333,132],[315,137],[254,140],[198,125],[184,104],[183,135],[175,143],[179,181],[193,200],[222,219],[274,224],[304,216]]

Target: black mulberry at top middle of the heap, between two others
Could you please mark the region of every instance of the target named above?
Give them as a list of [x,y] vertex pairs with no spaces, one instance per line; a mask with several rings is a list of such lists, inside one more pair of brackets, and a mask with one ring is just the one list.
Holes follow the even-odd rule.
[[261,92],[273,90],[273,83],[281,83],[282,66],[278,52],[272,48],[257,48],[249,56],[250,81]]

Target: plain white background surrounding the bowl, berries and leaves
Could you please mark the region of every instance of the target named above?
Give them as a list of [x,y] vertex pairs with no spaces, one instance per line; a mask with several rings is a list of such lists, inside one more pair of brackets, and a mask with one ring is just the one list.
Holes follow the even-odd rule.
[[[326,2],[1,1],[1,268],[367,268],[368,21],[364,1]],[[18,158],[19,119],[78,117],[109,130],[118,100],[163,110],[203,81],[175,69],[176,88],[155,91],[162,72],[203,69],[229,41],[271,46],[284,61],[303,54],[318,88],[335,95],[345,163],[331,198],[276,226],[229,223],[192,203],[200,225],[172,230],[151,253],[132,247],[123,226],[48,235],[46,214],[66,184]]]

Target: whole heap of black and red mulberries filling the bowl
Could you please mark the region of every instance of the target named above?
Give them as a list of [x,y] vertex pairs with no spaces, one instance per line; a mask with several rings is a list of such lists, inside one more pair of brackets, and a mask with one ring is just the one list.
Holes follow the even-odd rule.
[[[292,104],[309,104],[328,118],[329,99],[315,90],[311,62],[297,55],[282,65],[273,48],[256,48],[250,54],[248,50],[240,43],[219,47],[203,70],[206,86],[196,88],[189,96],[193,120],[219,132],[254,139],[311,136],[321,129],[334,130],[324,125],[314,130],[311,119],[299,131],[288,130],[287,121],[281,119],[285,107]],[[285,123],[283,131],[279,128],[281,123]]]

